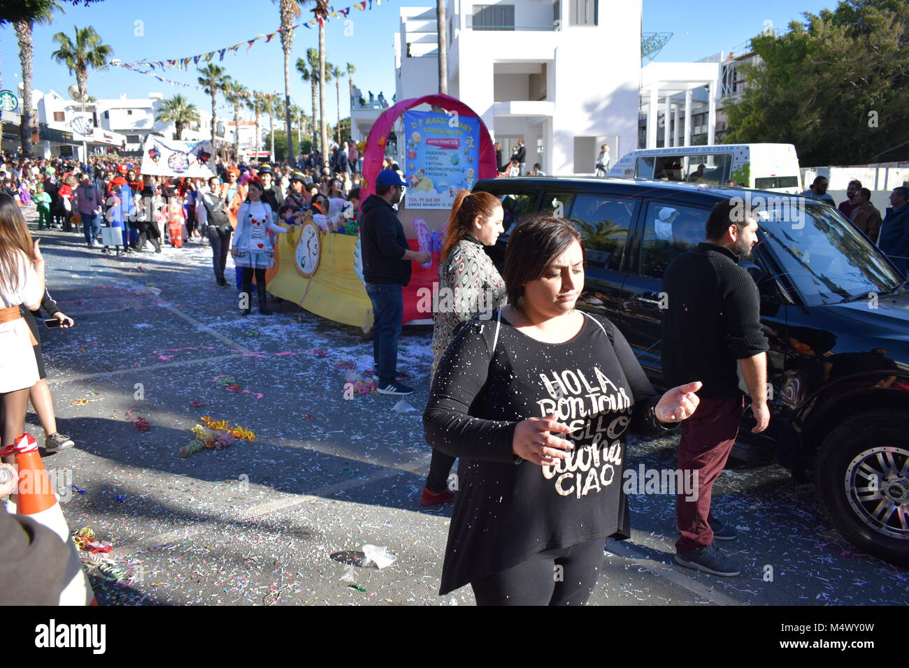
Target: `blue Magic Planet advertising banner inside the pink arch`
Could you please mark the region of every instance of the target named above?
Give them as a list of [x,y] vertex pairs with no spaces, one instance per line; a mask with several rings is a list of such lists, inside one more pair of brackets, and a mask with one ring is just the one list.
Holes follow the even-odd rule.
[[405,111],[408,209],[448,209],[477,179],[480,120],[473,116]]

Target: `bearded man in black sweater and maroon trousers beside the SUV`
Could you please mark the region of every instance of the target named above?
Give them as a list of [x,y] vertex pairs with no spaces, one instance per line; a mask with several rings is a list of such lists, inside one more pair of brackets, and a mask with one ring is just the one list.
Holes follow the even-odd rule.
[[701,381],[701,404],[682,426],[678,469],[697,471],[697,496],[676,498],[680,534],[675,561],[715,575],[737,575],[741,566],[713,546],[733,540],[735,529],[710,512],[711,489],[735,443],[744,408],[736,364],[751,394],[757,424],[770,422],[767,407],[769,346],[761,331],[760,298],[751,275],[738,265],[757,243],[757,217],[741,200],[714,206],[707,241],[675,257],[663,276],[663,372],[669,387]]

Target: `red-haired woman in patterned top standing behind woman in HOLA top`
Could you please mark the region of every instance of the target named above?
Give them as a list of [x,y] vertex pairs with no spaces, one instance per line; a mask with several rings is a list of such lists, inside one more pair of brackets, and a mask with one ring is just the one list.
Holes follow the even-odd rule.
[[[503,215],[502,203],[493,194],[462,190],[454,197],[439,261],[430,383],[457,328],[475,316],[488,320],[507,301],[502,276],[483,250],[484,245],[494,245],[504,232]],[[453,464],[454,457],[433,450],[421,504],[437,505],[454,500],[447,484]]]

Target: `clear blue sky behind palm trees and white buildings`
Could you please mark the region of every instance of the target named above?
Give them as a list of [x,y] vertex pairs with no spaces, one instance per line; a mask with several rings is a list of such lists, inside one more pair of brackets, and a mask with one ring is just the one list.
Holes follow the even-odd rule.
[[[352,0],[335,0],[335,9],[342,9]],[[325,26],[325,50],[329,62],[342,70],[346,63],[356,67],[355,85],[375,94],[385,91],[390,100],[395,91],[393,35],[398,26],[401,6],[420,6],[415,2],[383,0],[365,12],[351,14],[354,22],[348,27],[341,20]],[[835,0],[700,0],[697,3],[678,0],[644,0],[644,31],[671,32],[672,39],[657,55],[657,61],[690,61],[720,51],[729,52],[750,37],[764,30],[765,21],[783,28],[792,20],[801,20],[803,12],[816,13],[832,8]],[[57,65],[50,54],[55,49],[52,36],[57,31],[72,34],[73,26],[94,25],[105,44],[114,48],[116,58],[125,62],[135,60],[165,60],[205,53],[237,42],[252,39],[260,33],[272,33],[280,25],[278,8],[270,0],[157,0],[155,3],[107,2],[90,7],[67,5],[64,15],[56,15],[51,25],[35,27],[35,88],[54,89],[65,95],[66,86],[75,83],[65,65]],[[427,5],[428,6],[428,5]],[[600,0],[600,17],[610,6],[621,6],[620,0]],[[135,21],[144,22],[145,35],[135,35]],[[353,28],[353,31],[350,30]],[[317,46],[317,31],[298,28],[295,31],[291,56],[291,97],[308,111],[310,91],[296,74],[294,64],[305,50]],[[11,26],[0,28],[0,69],[4,88],[17,90],[21,76],[15,34]],[[244,47],[235,54],[228,53],[222,65],[228,73],[249,88],[260,91],[284,91],[284,65],[280,41],[270,44],[256,42],[248,52]],[[195,84],[195,68],[169,70],[166,78]],[[348,115],[346,77],[341,82],[341,116]],[[207,96],[191,88],[166,85],[155,79],[121,68],[96,73],[88,80],[90,95],[145,97],[155,91],[170,96],[186,95],[202,108],[209,108]],[[326,90],[325,106],[328,118],[335,119],[335,85]]]

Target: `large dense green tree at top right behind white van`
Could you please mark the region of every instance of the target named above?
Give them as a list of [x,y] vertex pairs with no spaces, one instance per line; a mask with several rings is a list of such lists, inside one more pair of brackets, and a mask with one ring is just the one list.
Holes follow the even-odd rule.
[[841,0],[752,40],[726,144],[794,144],[802,165],[909,156],[909,0]]

